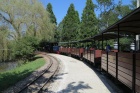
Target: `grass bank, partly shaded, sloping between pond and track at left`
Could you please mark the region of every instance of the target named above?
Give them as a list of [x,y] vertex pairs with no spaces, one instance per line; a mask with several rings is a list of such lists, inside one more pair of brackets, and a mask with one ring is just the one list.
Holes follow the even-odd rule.
[[33,71],[45,64],[44,58],[38,58],[34,61],[21,65],[13,70],[0,73],[0,92],[24,79]]

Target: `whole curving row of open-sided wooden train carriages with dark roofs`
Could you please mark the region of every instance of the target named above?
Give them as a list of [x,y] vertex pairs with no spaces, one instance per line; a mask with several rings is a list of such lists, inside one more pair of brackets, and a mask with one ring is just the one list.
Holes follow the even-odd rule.
[[[101,69],[129,87],[132,90],[132,93],[140,93],[140,53],[136,50],[136,39],[134,39],[135,51],[120,51],[119,39],[122,37],[120,36],[120,33],[131,34],[134,35],[134,37],[140,34],[140,8],[137,8],[123,19],[105,29],[101,34],[83,41],[102,41],[102,50],[94,47],[70,47],[69,51],[66,51],[66,47],[63,47],[60,49],[60,52],[70,53],[77,57],[84,58],[94,65],[101,63]],[[109,52],[104,51],[103,41],[115,38],[117,38],[118,50],[112,50]],[[81,43],[81,41],[77,43]]]

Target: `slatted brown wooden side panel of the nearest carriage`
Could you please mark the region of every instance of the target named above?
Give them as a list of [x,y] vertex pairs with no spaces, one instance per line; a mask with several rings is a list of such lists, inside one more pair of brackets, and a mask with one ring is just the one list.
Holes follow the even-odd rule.
[[140,92],[140,53],[102,52],[101,68],[130,89]]

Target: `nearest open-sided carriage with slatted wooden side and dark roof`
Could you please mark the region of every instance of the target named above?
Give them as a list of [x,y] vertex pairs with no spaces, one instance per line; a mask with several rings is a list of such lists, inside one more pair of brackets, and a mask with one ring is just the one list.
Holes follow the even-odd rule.
[[[104,30],[104,33],[116,32],[118,35],[128,33],[131,35],[140,34],[140,8],[136,9],[122,20],[118,21],[108,29]],[[132,89],[132,92],[140,92],[140,53],[136,51],[136,39],[135,51],[122,52],[120,51],[120,41],[118,36],[118,52],[104,52],[102,54],[102,69],[110,73],[117,80],[121,81],[127,87]]]

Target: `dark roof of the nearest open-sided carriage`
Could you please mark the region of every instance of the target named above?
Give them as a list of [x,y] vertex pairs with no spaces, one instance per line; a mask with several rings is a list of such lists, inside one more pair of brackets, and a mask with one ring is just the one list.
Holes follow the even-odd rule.
[[126,32],[131,34],[140,34],[140,7],[123,17],[121,20],[111,25],[107,29],[103,30],[106,32]]

